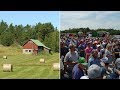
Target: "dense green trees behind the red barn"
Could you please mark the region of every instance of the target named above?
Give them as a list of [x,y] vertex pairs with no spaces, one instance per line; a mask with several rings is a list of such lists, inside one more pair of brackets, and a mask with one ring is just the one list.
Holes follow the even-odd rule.
[[29,39],[38,39],[53,51],[59,51],[59,31],[50,22],[37,23],[35,26],[0,22],[0,44],[22,46]]

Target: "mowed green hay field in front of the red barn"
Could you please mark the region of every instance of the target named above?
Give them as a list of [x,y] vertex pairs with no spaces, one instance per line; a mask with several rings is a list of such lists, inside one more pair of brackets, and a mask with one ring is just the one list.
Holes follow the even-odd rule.
[[[4,55],[7,59],[3,59]],[[40,63],[40,58],[44,58],[45,63]],[[5,63],[13,65],[13,72],[3,72]],[[59,79],[53,63],[59,63],[59,53],[25,55],[21,47],[0,46],[0,79]]]

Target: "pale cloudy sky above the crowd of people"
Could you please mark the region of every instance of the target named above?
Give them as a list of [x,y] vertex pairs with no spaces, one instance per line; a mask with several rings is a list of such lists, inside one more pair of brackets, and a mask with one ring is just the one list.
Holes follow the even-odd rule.
[[120,11],[62,11],[60,29],[112,28],[120,30]]

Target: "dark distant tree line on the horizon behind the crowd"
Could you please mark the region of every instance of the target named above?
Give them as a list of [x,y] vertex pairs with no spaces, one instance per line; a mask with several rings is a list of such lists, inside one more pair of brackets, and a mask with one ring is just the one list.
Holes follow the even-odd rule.
[[109,32],[110,35],[120,35],[120,30],[115,29],[104,29],[104,28],[98,28],[98,29],[90,29],[90,28],[69,28],[68,30],[62,30],[61,33],[78,33],[79,31],[83,33],[87,32],[95,32],[95,31],[106,31]]

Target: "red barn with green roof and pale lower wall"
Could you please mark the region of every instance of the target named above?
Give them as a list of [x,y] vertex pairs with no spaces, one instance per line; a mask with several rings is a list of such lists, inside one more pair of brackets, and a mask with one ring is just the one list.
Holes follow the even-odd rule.
[[38,54],[42,50],[49,52],[50,48],[46,47],[39,40],[30,39],[23,45],[24,54]]

